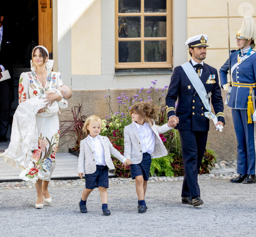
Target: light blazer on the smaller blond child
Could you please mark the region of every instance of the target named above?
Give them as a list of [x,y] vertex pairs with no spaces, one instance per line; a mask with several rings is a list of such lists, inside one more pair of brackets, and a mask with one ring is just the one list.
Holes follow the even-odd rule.
[[[105,162],[109,169],[115,169],[115,166],[112,162],[111,155],[113,154],[120,162],[125,158],[120,152],[113,147],[108,137],[99,135],[99,138],[102,143],[102,147],[105,153]],[[92,149],[92,144],[90,138],[87,136],[80,142],[80,153],[78,158],[78,172],[83,172],[85,174],[94,173],[96,171],[96,163],[94,158],[94,153]]]

